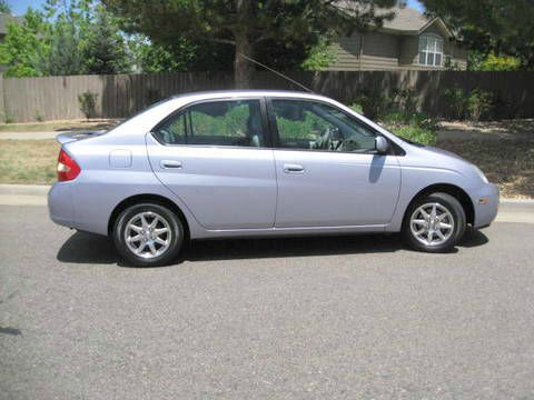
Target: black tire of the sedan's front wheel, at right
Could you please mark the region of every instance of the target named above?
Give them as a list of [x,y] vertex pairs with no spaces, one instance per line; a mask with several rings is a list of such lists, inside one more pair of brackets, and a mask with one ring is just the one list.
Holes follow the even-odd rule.
[[[449,212],[454,221],[454,227],[451,229],[451,231],[445,230],[444,237],[447,239],[436,244],[428,244],[428,243],[422,242],[421,240],[424,240],[424,238],[419,238],[421,240],[417,239],[416,234],[412,231],[412,227],[411,227],[411,220],[412,220],[412,217],[414,216],[414,212],[416,212],[416,210],[418,210],[419,207],[428,203],[437,203],[441,207],[445,208]],[[416,218],[414,217],[414,219]],[[447,221],[448,221],[448,218],[447,218]],[[414,227],[417,227],[417,226],[414,224]],[[405,242],[414,250],[433,252],[433,253],[447,252],[447,251],[451,251],[459,242],[459,240],[464,236],[465,228],[466,228],[465,211],[462,204],[459,203],[459,201],[451,194],[436,192],[436,193],[431,193],[431,194],[419,197],[406,210],[406,214],[404,216],[404,221],[403,221],[403,238]],[[435,236],[437,237],[437,234]],[[428,237],[426,237],[426,239],[428,239]],[[436,238],[436,241],[438,241],[439,239],[441,238]],[[432,243],[432,240],[431,240],[431,243]]]

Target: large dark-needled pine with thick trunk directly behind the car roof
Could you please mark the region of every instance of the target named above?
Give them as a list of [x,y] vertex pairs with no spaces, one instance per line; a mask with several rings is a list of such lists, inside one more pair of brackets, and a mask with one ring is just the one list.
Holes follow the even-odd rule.
[[[122,27],[129,32],[145,33],[151,41],[167,46],[184,38],[202,50],[210,49],[224,61],[231,56],[239,87],[249,86],[254,70],[240,54],[273,66],[273,53],[266,53],[265,49],[278,52],[286,49],[285,54],[297,50],[301,62],[325,32],[346,34],[369,24],[379,26],[392,14],[376,13],[376,7],[389,8],[396,3],[395,0],[102,1],[123,18]],[[220,67],[229,66],[221,62]]]

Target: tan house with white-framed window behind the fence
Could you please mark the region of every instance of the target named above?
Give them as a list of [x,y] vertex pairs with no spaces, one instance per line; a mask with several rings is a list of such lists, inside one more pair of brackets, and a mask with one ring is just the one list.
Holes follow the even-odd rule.
[[467,51],[441,18],[428,18],[408,7],[379,29],[339,37],[328,70],[439,70],[467,68]]

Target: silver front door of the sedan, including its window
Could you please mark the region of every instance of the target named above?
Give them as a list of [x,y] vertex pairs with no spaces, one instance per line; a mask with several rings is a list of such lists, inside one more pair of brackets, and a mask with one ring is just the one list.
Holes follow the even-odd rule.
[[387,224],[400,169],[376,132],[326,102],[269,99],[278,181],[277,228]]

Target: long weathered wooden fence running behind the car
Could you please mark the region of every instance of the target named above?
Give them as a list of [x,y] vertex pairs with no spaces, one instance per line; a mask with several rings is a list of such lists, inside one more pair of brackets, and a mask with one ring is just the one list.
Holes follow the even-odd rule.
[[[444,96],[454,86],[491,90],[503,118],[534,117],[534,72],[468,71],[362,71],[288,72],[290,78],[317,93],[345,103],[365,91],[390,94],[413,89],[419,107],[431,116],[449,109]],[[270,72],[257,72],[256,89],[301,90]],[[125,118],[156,100],[184,92],[234,88],[230,72],[156,73],[118,76],[70,76],[47,78],[1,78],[0,113],[13,122],[83,118],[78,96],[96,96],[99,118]]]

